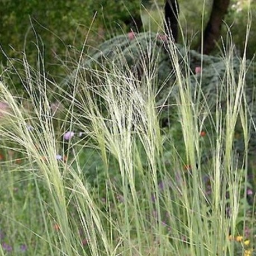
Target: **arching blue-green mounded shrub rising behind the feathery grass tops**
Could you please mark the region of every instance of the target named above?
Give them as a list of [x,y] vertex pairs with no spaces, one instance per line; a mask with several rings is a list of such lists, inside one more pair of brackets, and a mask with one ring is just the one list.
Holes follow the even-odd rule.
[[[171,56],[174,48],[177,51],[181,70],[184,74],[186,72],[190,74],[193,86],[195,86],[195,69],[196,67],[201,67],[201,64],[202,70],[206,70],[202,73],[203,89],[209,90],[212,86],[215,86],[216,82],[221,82],[226,70],[226,64],[221,56],[201,56],[197,51],[188,50],[180,44],[176,46],[170,45],[167,37],[151,32],[113,37],[97,48],[89,50],[87,58],[84,58],[80,63],[80,67],[63,81],[63,86],[68,83],[72,84],[72,80],[77,73],[82,75],[84,70],[88,70],[87,73],[89,74],[89,70],[92,68],[93,70],[106,70],[107,68],[109,72],[115,69],[120,74],[134,75],[134,79],[143,79],[143,77],[147,77],[150,70],[156,67],[154,80],[157,81],[156,83],[160,87],[163,82],[167,83],[167,80],[174,82],[176,79],[173,73],[174,65],[172,64]],[[232,66],[236,74],[238,74],[240,57],[236,53],[231,54],[233,55]],[[189,67],[184,64],[186,59]],[[247,61],[249,69],[246,75],[246,82],[249,88],[252,89],[255,83],[255,64],[250,62],[250,60]]]

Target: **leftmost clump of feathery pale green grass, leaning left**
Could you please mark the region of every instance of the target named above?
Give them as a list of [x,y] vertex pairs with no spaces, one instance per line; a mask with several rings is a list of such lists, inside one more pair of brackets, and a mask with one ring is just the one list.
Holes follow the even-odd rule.
[[[25,196],[24,200],[21,201],[24,201],[23,208],[27,217],[32,215],[31,220],[35,224],[30,225],[30,222],[23,222],[20,214],[18,214],[20,212],[18,209],[8,214],[11,210],[11,208],[8,208],[6,214],[1,216],[1,219],[3,217],[6,222],[10,222],[12,219],[17,222],[16,224],[21,230],[22,227],[25,227],[22,233],[30,234],[31,239],[36,239],[37,243],[40,244],[38,254],[41,254],[45,249],[50,255],[80,255],[80,253],[84,252],[78,232],[80,222],[79,218],[77,222],[73,221],[75,210],[72,210],[72,207],[69,206],[70,200],[73,198],[72,193],[77,191],[78,188],[76,188],[77,184],[72,182],[73,179],[70,179],[70,169],[72,167],[56,159],[56,152],[60,148],[60,142],[57,140],[58,136],[54,132],[53,115],[51,115],[48,91],[46,89],[49,81],[46,77],[41,77],[41,74],[35,72],[26,59],[24,59],[24,69],[26,70],[27,78],[26,89],[33,111],[28,112],[23,107],[22,102],[20,103],[18,98],[12,96],[11,92],[8,91],[7,85],[1,82],[1,99],[8,102],[10,114],[6,117],[8,122],[1,124],[0,129],[4,141],[3,148],[6,147],[21,153],[26,159],[26,163],[17,169],[15,165],[8,164],[7,162],[7,169],[4,170],[4,173],[1,173],[3,176],[3,179],[1,179],[2,181],[11,182],[10,186],[12,179],[17,179],[21,184],[27,183],[28,187],[32,186],[34,188],[28,194],[29,196]],[[27,126],[28,122],[29,126]],[[28,129],[28,127],[33,127],[33,129]],[[76,173],[74,170],[74,177],[77,176]],[[23,178],[25,182],[20,177],[21,174],[25,175]],[[83,197],[83,200],[85,200],[85,186],[86,184],[83,184],[83,192],[78,194]],[[6,189],[8,190],[9,187]],[[26,200],[29,200],[29,198],[31,198],[31,203],[34,205],[34,211],[32,212],[28,212],[29,208],[26,207]],[[77,200],[79,196],[75,198]],[[96,209],[93,205],[91,207]],[[86,208],[83,210],[88,212],[88,206],[86,205]],[[92,213],[92,211],[89,212]],[[97,214],[96,210],[94,212]],[[22,215],[22,217],[24,216]],[[93,219],[96,217],[92,216]],[[90,218],[91,214],[88,215],[87,220]],[[99,220],[99,217],[97,217],[97,220]],[[54,222],[57,224],[51,225]],[[70,223],[73,223],[73,226],[70,226]],[[53,228],[53,226],[59,227],[58,233],[54,234],[56,228]],[[11,227],[8,228],[11,229]],[[101,228],[100,222],[98,228]],[[88,228],[88,230],[93,229],[92,226]],[[90,235],[92,237],[93,234],[90,233]],[[103,232],[101,232],[101,239],[103,237]],[[96,237],[94,241],[96,242]],[[92,248],[93,253],[91,255],[99,255],[99,248],[93,248],[94,245],[92,241],[88,246],[88,248]],[[32,248],[30,255],[34,254],[36,250],[36,248]]]

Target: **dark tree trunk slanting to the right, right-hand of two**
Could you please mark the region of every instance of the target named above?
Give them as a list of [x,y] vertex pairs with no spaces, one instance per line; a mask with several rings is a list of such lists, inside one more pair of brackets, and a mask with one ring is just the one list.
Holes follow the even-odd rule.
[[214,0],[210,20],[203,32],[203,54],[209,54],[219,40],[222,19],[229,8],[229,3],[230,0]]

